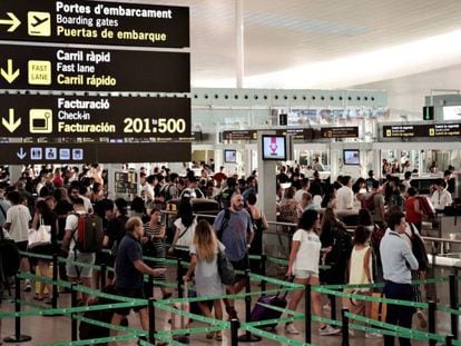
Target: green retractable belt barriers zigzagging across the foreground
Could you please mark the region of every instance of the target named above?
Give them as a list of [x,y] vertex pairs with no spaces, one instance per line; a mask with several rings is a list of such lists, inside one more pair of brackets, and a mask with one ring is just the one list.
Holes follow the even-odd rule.
[[[185,248],[185,247],[177,246],[175,248]],[[33,253],[32,254],[31,253],[21,253],[21,255],[26,255],[26,256],[35,257],[35,258],[52,260],[52,256],[37,255],[37,254],[33,254]],[[262,259],[262,256],[251,255],[249,258],[251,259]],[[288,263],[286,259],[278,258],[278,257],[265,256],[265,258],[269,263],[284,265],[284,266],[286,266],[287,263]],[[165,264],[165,265],[168,265],[168,266],[176,266],[177,265],[176,259],[154,258],[154,257],[145,257],[145,259],[147,261],[160,263],[160,264]],[[67,258],[59,258],[59,261],[60,263],[70,263],[72,265],[80,266],[80,267],[89,267],[89,268],[92,268],[95,270],[100,270],[101,269],[101,266],[98,266],[98,265],[81,264],[81,263],[78,263],[78,261],[75,261],[75,260],[71,260],[71,259],[67,259]],[[182,263],[182,265],[184,267],[189,266],[188,263]],[[107,270],[114,270],[114,268],[108,267]],[[61,286],[61,287],[68,287],[68,288],[71,287],[71,284],[68,283],[68,281],[53,280],[52,278],[49,278],[49,277],[38,277],[38,276],[27,274],[27,273],[18,274],[17,277],[19,279],[35,279],[37,281],[43,281],[43,283],[47,283],[47,284],[52,284],[52,285],[57,285],[57,286]],[[206,300],[215,300],[215,299],[224,299],[224,298],[244,299],[244,298],[251,297],[251,296],[262,296],[262,295],[276,294],[276,293],[279,293],[279,291],[293,291],[293,290],[298,290],[298,289],[306,289],[306,287],[303,286],[303,285],[290,283],[290,281],[283,280],[283,279],[266,277],[266,276],[258,275],[258,274],[253,274],[253,273],[249,274],[249,279],[252,281],[262,281],[262,283],[265,283],[265,284],[267,283],[267,284],[277,286],[279,288],[277,288],[277,289],[263,289],[263,290],[257,290],[257,291],[246,291],[246,293],[236,294],[236,295],[220,295],[220,296],[213,296],[213,297],[190,297],[190,298],[189,297],[184,297],[184,298],[171,298],[171,299],[165,299],[165,300],[156,300],[154,303],[155,308],[160,309],[160,310],[166,312],[166,313],[174,314],[174,315],[184,316],[184,317],[193,319],[193,320],[202,322],[202,323],[206,324],[207,326],[157,332],[157,333],[155,333],[155,338],[157,340],[160,340],[160,342],[169,343],[170,345],[183,345],[182,343],[174,340],[173,337],[176,336],[176,335],[203,334],[203,333],[209,333],[209,332],[219,332],[219,330],[230,329],[230,323],[228,323],[228,322],[217,320],[217,319],[214,319],[214,318],[207,318],[207,317],[204,317],[202,315],[195,315],[195,314],[192,314],[189,312],[185,312],[185,310],[180,309],[178,306],[180,306],[180,304],[184,304],[184,303],[190,304],[190,303],[195,303],[195,301],[206,301]],[[457,276],[455,279],[457,280],[461,279],[461,276]],[[147,276],[145,276],[145,280],[148,281],[149,278]],[[449,281],[449,278],[432,278],[432,279],[425,279],[425,280],[414,280],[414,281],[412,281],[412,285],[442,284],[442,283],[447,283],[447,281]],[[161,286],[169,286],[169,287],[176,287],[177,286],[177,283],[167,283],[167,281],[156,281],[156,284],[159,285],[159,286],[161,285]],[[384,304],[396,304],[396,305],[401,305],[401,306],[410,306],[410,307],[423,308],[423,309],[429,308],[429,304],[426,304],[426,303],[416,303],[416,301],[400,300],[400,299],[389,299],[389,298],[385,298],[385,297],[384,298],[372,297],[372,296],[365,296],[365,295],[360,295],[360,294],[354,294],[354,293],[347,291],[347,289],[353,289],[353,288],[381,288],[383,286],[384,286],[384,284],[380,283],[380,284],[371,284],[371,285],[318,285],[318,286],[311,286],[310,288],[312,290],[318,291],[321,294],[332,295],[332,296],[342,297],[342,298],[353,298],[353,299],[366,300],[366,301],[380,301],[380,303],[384,303]],[[262,286],[262,287],[265,287],[265,286]],[[11,300],[12,303],[19,303],[21,305],[28,305],[28,306],[31,306],[35,309],[33,310],[28,310],[28,312],[20,312],[19,310],[19,312],[14,312],[14,313],[0,313],[0,318],[40,316],[40,315],[46,315],[46,316],[72,315],[72,318],[75,318],[77,320],[86,322],[86,323],[89,323],[89,324],[94,324],[94,325],[97,325],[97,326],[111,328],[111,329],[115,329],[117,332],[125,333],[124,335],[119,335],[119,336],[116,336],[116,337],[106,337],[106,338],[99,338],[99,339],[94,339],[94,340],[80,340],[80,342],[71,342],[71,343],[69,343],[69,342],[55,343],[55,344],[51,344],[51,346],[58,346],[58,345],[92,345],[92,344],[101,344],[101,343],[107,343],[107,342],[124,342],[124,340],[138,339],[139,337],[146,337],[148,335],[147,330],[141,330],[141,329],[136,329],[136,328],[130,328],[130,327],[114,326],[114,325],[108,324],[108,323],[102,323],[102,322],[98,322],[98,320],[94,320],[94,319],[82,317],[80,315],[76,315],[78,313],[85,313],[85,312],[91,312],[91,310],[116,309],[116,308],[127,308],[127,307],[136,307],[136,306],[147,307],[147,305],[148,305],[147,299],[134,299],[134,298],[126,298],[126,297],[121,297],[121,296],[117,296],[117,295],[105,294],[105,293],[101,293],[97,289],[88,288],[86,286],[72,285],[72,288],[75,290],[86,293],[88,295],[111,299],[115,303],[104,304],[104,305],[82,306],[82,307],[48,308],[47,309],[46,306],[29,301],[29,300],[24,300],[24,299],[13,299],[13,300],[11,300],[11,299],[9,299],[9,300],[6,300],[6,301]],[[346,290],[346,291],[344,291],[344,290]],[[311,316],[310,322],[307,322],[305,314],[293,312],[293,310],[290,310],[287,308],[281,308],[281,307],[265,305],[265,304],[262,304],[262,303],[257,303],[257,304],[259,304],[261,306],[264,306],[265,308],[271,308],[271,309],[281,312],[281,313],[285,314],[286,317],[272,319],[272,320],[263,320],[263,322],[241,323],[239,328],[242,330],[246,330],[247,333],[258,335],[261,337],[265,337],[267,339],[271,339],[271,340],[274,340],[274,342],[277,342],[277,343],[282,343],[282,344],[286,344],[286,345],[294,345],[294,346],[310,345],[310,344],[306,344],[304,342],[294,340],[294,339],[290,339],[290,338],[284,337],[284,336],[267,333],[267,332],[263,330],[261,327],[263,327],[265,325],[271,325],[271,324],[281,324],[281,323],[283,324],[283,323],[295,322],[295,320],[304,320],[305,323],[310,323],[311,320],[314,320],[314,322],[326,323],[326,324],[334,325],[334,326],[342,326],[342,322],[340,322],[340,320],[323,318],[323,317],[318,317],[318,316]],[[455,315],[455,316],[461,315],[461,312],[459,309],[453,308],[453,307],[445,307],[445,306],[440,306],[439,305],[439,306],[437,306],[437,310],[442,312],[442,313],[447,313],[447,314],[451,314],[451,315]],[[408,329],[408,328],[390,325],[390,324],[386,324],[386,323],[383,323],[383,322],[379,322],[379,320],[375,320],[375,319],[370,319],[370,318],[363,317],[361,315],[351,314],[350,312],[345,312],[344,316],[347,317],[347,318],[354,319],[355,323],[354,324],[349,324],[349,326],[352,327],[353,329],[356,329],[356,330],[363,330],[363,332],[366,332],[366,333],[381,333],[381,334],[385,334],[385,335],[392,335],[392,336],[395,336],[395,337],[406,337],[406,338],[414,338],[414,339],[420,339],[420,340],[433,340],[433,342],[440,343],[442,345],[445,344],[445,338],[443,336],[434,334],[434,333],[425,333],[425,332],[421,332],[421,330]],[[364,325],[356,324],[356,323],[362,323]],[[139,345],[145,345],[145,346],[155,345],[155,344],[146,342],[145,339],[139,339],[138,344]],[[453,340],[452,345],[461,346],[461,340]]]

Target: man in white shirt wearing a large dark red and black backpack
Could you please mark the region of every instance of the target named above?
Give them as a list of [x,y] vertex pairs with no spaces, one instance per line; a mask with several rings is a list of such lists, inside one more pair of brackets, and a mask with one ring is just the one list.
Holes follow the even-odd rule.
[[[94,265],[96,251],[102,248],[102,220],[96,215],[88,215],[81,198],[73,199],[73,214],[66,218],[66,234],[62,239],[62,250],[68,253],[66,273],[71,283],[81,281],[91,287],[92,268],[81,267],[73,261]],[[86,305],[88,295],[82,294],[79,305]]]

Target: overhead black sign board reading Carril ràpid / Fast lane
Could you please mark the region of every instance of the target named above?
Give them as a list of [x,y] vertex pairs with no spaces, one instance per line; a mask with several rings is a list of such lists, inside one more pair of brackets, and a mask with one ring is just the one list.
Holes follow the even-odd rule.
[[188,53],[7,45],[0,89],[189,92]]

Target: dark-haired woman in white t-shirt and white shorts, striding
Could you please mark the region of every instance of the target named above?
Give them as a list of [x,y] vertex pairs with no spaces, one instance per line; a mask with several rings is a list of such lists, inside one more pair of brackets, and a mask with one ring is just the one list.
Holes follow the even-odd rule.
[[[316,210],[306,210],[301,216],[297,230],[293,235],[292,251],[290,254],[287,277],[294,276],[294,281],[300,285],[318,285],[318,260],[322,244],[317,235],[318,212]],[[297,305],[303,297],[304,290],[295,290],[288,303],[290,310],[296,310]],[[311,293],[312,306],[316,316],[323,317],[322,300],[318,291]],[[300,334],[293,323],[285,324],[287,334]],[[323,324],[320,328],[320,335],[333,335],[340,333],[330,325]]]

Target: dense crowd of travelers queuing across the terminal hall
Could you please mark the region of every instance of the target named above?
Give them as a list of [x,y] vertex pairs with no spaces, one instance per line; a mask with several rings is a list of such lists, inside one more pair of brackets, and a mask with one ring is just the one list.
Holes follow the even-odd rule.
[[[282,227],[292,241],[286,258],[286,276],[294,277],[295,283],[302,285],[384,280],[388,297],[421,299],[419,287],[412,286],[411,280],[424,277],[424,268],[419,266],[412,254],[412,243],[408,239],[420,235],[422,221],[429,217],[422,205],[428,199],[420,198],[418,190],[411,186],[411,172],[405,172],[403,179],[388,174],[379,180],[370,170],[367,177],[354,180],[351,176],[340,176],[331,181],[321,180],[318,171],[306,177],[301,167],[278,167],[277,189],[274,191],[277,220],[292,224]],[[179,176],[165,167],[155,168],[151,174],[141,168],[140,194],[129,201],[107,198],[107,171],[100,165],[86,166],[81,170],[78,167],[42,167],[38,175],[28,167],[18,181],[3,179],[1,184],[0,226],[3,236],[13,239],[22,254],[37,251],[68,258],[69,261],[59,267],[62,280],[102,289],[99,286],[100,273],[72,261],[105,264],[115,267],[115,273],[108,273],[107,283],[115,285],[117,294],[145,298],[154,293],[144,289],[143,275],[154,276],[155,281],[165,281],[167,269],[161,261],[147,265],[143,257],[161,259],[175,256],[190,263],[182,275],[185,281],[195,277],[196,293],[200,297],[237,294],[245,288],[244,275],[237,275],[233,285],[222,284],[217,270],[219,253],[225,253],[236,270],[249,268],[261,273],[261,261],[248,260],[248,255],[264,253],[263,235],[268,229],[264,210],[257,206],[257,171],[238,178],[227,176],[224,167],[215,172],[213,166],[203,165],[197,177],[193,170]],[[429,197],[437,211],[452,204],[451,186],[451,171],[447,170],[444,178],[434,184]],[[192,200],[196,198],[216,201],[220,211],[214,223],[200,220],[194,215]],[[163,210],[174,199],[178,200],[177,216],[169,224]],[[79,217],[86,215],[100,218],[104,229],[101,248],[105,250],[84,253],[78,249],[76,229]],[[352,234],[346,224],[354,225]],[[50,229],[50,243],[36,250],[29,248],[30,233],[42,225]],[[168,245],[171,246],[168,248]],[[21,271],[49,276],[49,270],[50,260],[22,255]],[[3,284],[8,286],[13,283],[0,280],[0,294]],[[32,291],[32,283],[26,279],[21,288]],[[165,286],[160,285],[160,289],[163,299],[171,297],[173,291]],[[49,285],[39,285],[33,291],[33,299],[51,304]],[[370,295],[371,290],[359,293]],[[295,310],[301,298],[302,291],[294,291],[290,296],[288,308]],[[78,305],[90,301],[88,295],[78,296]],[[312,303],[317,316],[323,316],[324,309],[328,308],[315,291],[312,293]],[[219,299],[212,305],[206,301],[198,305],[205,316],[210,317],[214,310],[216,318],[224,318]],[[229,319],[238,318],[234,300],[224,299],[224,307]],[[414,312],[399,308],[388,307],[386,322],[411,327]],[[351,309],[363,310],[367,317],[371,316],[370,303],[353,305]],[[143,328],[147,328],[146,308],[136,310],[139,312]],[[117,310],[112,323],[122,323],[129,313],[130,309]],[[424,314],[421,310],[416,314],[424,325]],[[292,323],[285,325],[285,332],[300,333]],[[334,335],[340,332],[321,324],[318,333]],[[220,340],[223,336],[220,333],[208,333],[206,337]],[[382,336],[367,333],[366,337]],[[384,338],[385,345],[393,345],[393,338]],[[401,345],[409,344],[408,339],[401,339]]]

